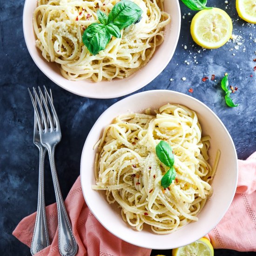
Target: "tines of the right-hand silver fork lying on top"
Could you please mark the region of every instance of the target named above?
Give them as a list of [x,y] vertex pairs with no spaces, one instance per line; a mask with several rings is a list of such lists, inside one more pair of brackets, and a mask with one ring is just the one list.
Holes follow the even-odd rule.
[[35,110],[40,133],[46,133],[47,131],[53,131],[53,130],[60,130],[60,124],[59,124],[57,113],[54,108],[51,90],[49,94],[47,92],[47,89],[44,86],[45,95],[43,94],[40,87],[38,87],[38,90],[39,90],[40,97],[38,96],[36,89],[34,87],[33,87],[34,96],[31,94],[31,91],[28,88],[28,92],[30,94],[33,107]]

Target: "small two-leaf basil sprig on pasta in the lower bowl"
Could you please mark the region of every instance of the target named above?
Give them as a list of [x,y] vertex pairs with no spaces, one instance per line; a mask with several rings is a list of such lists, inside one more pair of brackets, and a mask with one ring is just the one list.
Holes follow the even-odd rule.
[[159,160],[169,167],[168,172],[163,175],[161,186],[166,189],[176,177],[174,165],[174,154],[171,146],[166,141],[160,141],[155,147],[155,153]]

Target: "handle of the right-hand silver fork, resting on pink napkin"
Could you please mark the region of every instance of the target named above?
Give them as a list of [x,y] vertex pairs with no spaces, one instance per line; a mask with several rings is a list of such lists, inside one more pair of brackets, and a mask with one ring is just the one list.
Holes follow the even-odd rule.
[[58,211],[58,231],[59,231],[59,251],[61,256],[74,256],[77,253],[77,244],[72,233],[72,227],[67,216],[67,210],[61,195],[60,184],[58,181],[58,176],[56,172],[55,162],[54,162],[54,149],[47,147],[48,155],[52,170],[54,191],[57,202]]

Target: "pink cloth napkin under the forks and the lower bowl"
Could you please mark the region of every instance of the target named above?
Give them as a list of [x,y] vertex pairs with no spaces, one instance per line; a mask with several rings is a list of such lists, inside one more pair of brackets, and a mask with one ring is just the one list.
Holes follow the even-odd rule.
[[[78,256],[149,256],[151,250],[137,247],[115,237],[88,209],[82,194],[80,177],[65,200],[72,222]],[[47,225],[51,245],[36,256],[59,256],[56,203],[47,206]],[[31,245],[36,213],[25,217],[13,231],[20,242]],[[208,234],[216,249],[256,251],[256,152],[246,161],[239,160],[239,178],[235,198],[221,222]]]

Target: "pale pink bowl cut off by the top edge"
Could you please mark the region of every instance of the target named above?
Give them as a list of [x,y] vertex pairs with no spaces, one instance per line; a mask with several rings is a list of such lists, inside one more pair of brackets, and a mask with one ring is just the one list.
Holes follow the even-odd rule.
[[23,32],[28,51],[40,70],[54,83],[74,94],[89,98],[108,99],[132,93],[155,79],[171,60],[179,39],[181,28],[181,11],[178,0],[165,0],[165,11],[171,15],[171,23],[165,28],[165,40],[158,47],[152,59],[145,67],[126,79],[113,81],[70,81],[61,75],[56,63],[49,63],[35,46],[32,23],[37,1],[26,0],[23,10]]

